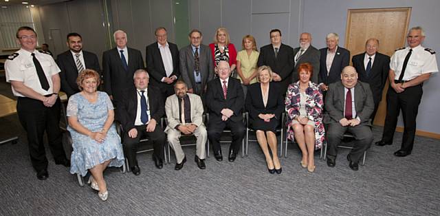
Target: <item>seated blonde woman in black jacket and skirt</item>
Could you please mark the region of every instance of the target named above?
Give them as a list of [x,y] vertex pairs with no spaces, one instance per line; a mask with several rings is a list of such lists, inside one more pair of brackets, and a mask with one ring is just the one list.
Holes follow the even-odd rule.
[[[248,87],[246,109],[249,112],[251,128],[256,131],[256,139],[266,157],[267,169],[270,173],[279,174],[282,169],[278,160],[276,127],[284,110],[283,94],[278,85],[271,82],[270,67],[259,67],[257,79],[259,83]],[[267,146],[270,147],[272,156]]]

